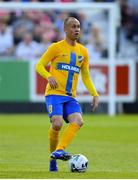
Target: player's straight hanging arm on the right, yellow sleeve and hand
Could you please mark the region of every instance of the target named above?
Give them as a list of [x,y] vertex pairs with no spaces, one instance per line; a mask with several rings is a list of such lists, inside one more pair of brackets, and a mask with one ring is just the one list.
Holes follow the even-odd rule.
[[99,104],[99,94],[96,91],[96,88],[92,82],[90,72],[89,72],[89,63],[88,63],[88,54],[86,54],[85,61],[81,67],[81,77],[85,87],[88,89],[89,93],[93,96],[93,111],[98,107]]

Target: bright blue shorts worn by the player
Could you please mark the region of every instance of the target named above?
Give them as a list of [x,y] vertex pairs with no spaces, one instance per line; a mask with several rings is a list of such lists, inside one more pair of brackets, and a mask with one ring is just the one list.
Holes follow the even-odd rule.
[[60,115],[66,123],[67,117],[72,113],[82,113],[78,101],[69,96],[48,95],[45,97],[48,115],[51,118],[53,115]]

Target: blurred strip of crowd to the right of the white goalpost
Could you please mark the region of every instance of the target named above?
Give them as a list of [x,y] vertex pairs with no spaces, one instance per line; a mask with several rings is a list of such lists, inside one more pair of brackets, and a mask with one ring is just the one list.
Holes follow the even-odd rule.
[[121,25],[118,33],[119,57],[138,60],[138,1],[121,0]]

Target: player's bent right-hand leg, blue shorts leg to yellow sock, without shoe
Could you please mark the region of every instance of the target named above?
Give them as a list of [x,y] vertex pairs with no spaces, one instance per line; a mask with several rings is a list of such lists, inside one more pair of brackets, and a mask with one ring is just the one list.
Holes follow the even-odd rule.
[[76,100],[70,101],[64,107],[64,119],[68,120],[69,125],[64,130],[57,150],[64,150],[73,140],[80,127],[83,125],[80,105]]

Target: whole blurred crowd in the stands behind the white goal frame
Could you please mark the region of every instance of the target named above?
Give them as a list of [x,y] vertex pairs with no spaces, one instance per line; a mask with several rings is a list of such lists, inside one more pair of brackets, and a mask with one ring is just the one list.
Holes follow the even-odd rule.
[[[77,2],[83,2],[83,0]],[[138,57],[138,1],[121,0],[119,3],[121,22],[117,29],[116,54],[119,58],[136,59]],[[38,60],[52,42],[64,38],[63,21],[68,16],[74,16],[80,20],[82,29],[80,42],[87,47],[90,58],[93,60],[107,58],[109,26],[105,11],[74,13],[59,10],[0,9],[0,59],[13,57],[17,60]]]

